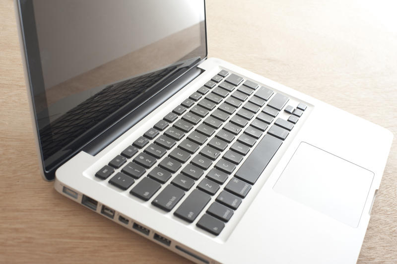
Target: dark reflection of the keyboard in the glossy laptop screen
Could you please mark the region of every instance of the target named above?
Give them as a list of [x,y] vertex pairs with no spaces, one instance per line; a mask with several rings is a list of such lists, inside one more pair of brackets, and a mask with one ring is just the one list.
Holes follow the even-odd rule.
[[[112,84],[88,98],[51,126],[40,131],[44,159],[65,146],[94,125],[116,112],[119,108],[150,88],[176,67],[168,67],[139,77]],[[66,129],[70,128],[70,129]]]

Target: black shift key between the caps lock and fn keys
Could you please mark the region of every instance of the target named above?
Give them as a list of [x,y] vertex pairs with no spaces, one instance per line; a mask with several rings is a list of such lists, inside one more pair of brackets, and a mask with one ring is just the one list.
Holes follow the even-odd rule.
[[174,215],[189,223],[193,223],[202,209],[207,205],[211,197],[199,190],[193,192],[182,202]]

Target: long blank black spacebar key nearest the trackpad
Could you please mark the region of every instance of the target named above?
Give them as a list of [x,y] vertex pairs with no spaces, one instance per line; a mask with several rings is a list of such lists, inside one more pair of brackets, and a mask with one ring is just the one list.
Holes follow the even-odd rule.
[[251,152],[234,176],[249,184],[254,184],[265,170],[281,143],[281,139],[265,134],[261,142]]

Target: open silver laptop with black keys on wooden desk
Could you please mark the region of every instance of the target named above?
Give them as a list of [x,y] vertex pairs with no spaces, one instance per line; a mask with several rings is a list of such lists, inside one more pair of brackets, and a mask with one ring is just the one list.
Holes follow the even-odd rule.
[[15,5],[61,195],[200,264],[357,261],[391,132],[207,58],[203,0]]

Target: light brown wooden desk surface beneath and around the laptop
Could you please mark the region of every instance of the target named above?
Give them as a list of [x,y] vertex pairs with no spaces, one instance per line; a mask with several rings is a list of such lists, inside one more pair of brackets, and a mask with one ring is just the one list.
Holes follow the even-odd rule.
[[[396,3],[209,0],[208,55],[397,135]],[[0,1],[0,263],[186,263],[41,179],[12,0]],[[365,142],[363,142],[365,144]],[[397,262],[397,144],[359,263]]]

